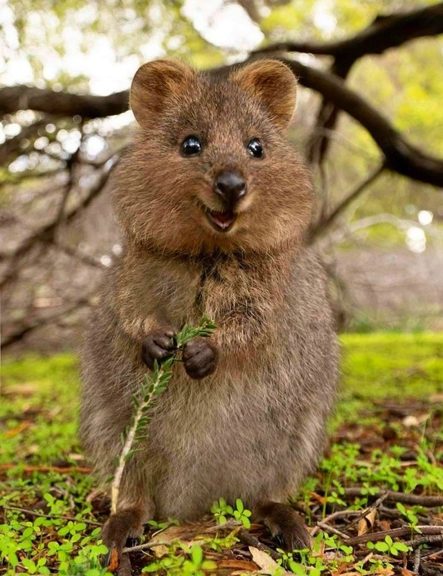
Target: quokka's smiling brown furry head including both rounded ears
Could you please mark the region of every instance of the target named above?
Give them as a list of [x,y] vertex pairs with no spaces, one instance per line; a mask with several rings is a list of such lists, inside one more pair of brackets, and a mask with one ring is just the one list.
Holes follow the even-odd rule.
[[157,60],[138,69],[130,104],[141,130],[114,192],[129,238],[185,253],[300,239],[314,195],[287,141],[296,104],[288,67],[258,60],[216,78]]

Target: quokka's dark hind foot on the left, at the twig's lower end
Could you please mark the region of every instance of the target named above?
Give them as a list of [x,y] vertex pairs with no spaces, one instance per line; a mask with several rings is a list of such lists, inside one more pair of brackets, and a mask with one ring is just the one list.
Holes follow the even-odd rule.
[[125,546],[136,546],[140,540],[143,525],[141,516],[133,509],[111,514],[103,527],[101,539],[108,553],[102,559],[102,565],[118,576],[131,575],[129,555],[122,554]]

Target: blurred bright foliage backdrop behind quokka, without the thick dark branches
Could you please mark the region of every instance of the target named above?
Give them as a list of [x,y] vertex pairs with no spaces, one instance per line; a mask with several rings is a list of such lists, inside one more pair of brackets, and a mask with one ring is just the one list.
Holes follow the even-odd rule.
[[[380,15],[434,5],[0,0],[0,84],[52,89],[54,101],[62,92],[105,98],[128,89],[138,66],[154,58],[222,67],[273,42],[336,42]],[[332,64],[329,56],[311,53],[294,58],[325,71]],[[410,143],[443,157],[442,71],[443,40],[433,35],[359,58],[346,82]],[[320,103],[316,92],[300,87],[291,139],[301,153],[313,137]],[[129,141],[133,117],[126,112],[87,119],[21,107],[26,109],[18,105],[5,112],[0,124],[3,334],[17,349],[40,349],[45,342],[70,347],[94,302],[102,269],[121,251],[100,170]],[[350,116],[341,114],[329,135],[327,156],[311,162],[320,213],[381,162],[370,134]],[[94,186],[98,190],[88,200]],[[51,222],[51,234],[40,234]],[[315,238],[345,329],[443,328],[442,222],[442,189],[383,171]]]

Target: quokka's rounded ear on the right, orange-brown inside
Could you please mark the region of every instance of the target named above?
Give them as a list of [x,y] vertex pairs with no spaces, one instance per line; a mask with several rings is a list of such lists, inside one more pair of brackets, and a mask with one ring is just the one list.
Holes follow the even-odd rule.
[[259,98],[278,126],[287,127],[296,106],[297,80],[286,64],[257,60],[237,70],[231,79]]

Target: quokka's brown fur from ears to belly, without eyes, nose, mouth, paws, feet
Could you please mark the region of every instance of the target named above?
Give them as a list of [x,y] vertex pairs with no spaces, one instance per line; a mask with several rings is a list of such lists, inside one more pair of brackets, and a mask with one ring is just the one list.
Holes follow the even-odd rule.
[[[294,494],[322,451],[338,352],[325,274],[302,247],[314,194],[284,134],[295,96],[289,70],[269,61],[228,80],[159,61],[134,78],[141,130],[114,191],[125,252],[103,286],[83,361],[80,431],[102,479],[146,370],[145,339],[206,314],[218,351],[203,381],[174,367],[127,466],[120,510],[141,510],[143,520],[195,518],[220,496],[271,518],[260,505]],[[188,134],[203,144],[196,157],[179,152]],[[262,159],[246,151],[253,138]],[[216,232],[202,207],[224,209],[213,182],[226,169],[244,176],[247,194],[232,229]]]

